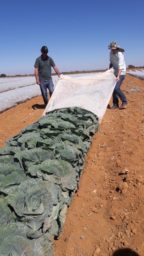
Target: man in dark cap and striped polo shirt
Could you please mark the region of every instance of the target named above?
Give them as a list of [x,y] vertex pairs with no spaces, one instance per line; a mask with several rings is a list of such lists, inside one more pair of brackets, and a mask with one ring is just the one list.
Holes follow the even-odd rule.
[[54,92],[54,84],[52,82],[52,68],[54,68],[54,71],[58,74],[58,77],[60,77],[60,73],[58,71],[58,68],[54,64],[54,61],[50,56],[48,56],[48,48],[46,46],[42,46],[41,48],[41,56],[36,59],[36,62],[34,64],[35,68],[35,77],[36,77],[36,83],[40,85],[40,90],[42,92],[42,98],[44,100],[44,105],[48,104],[48,96],[47,96],[47,89],[50,92],[50,97],[52,96],[52,93]]

